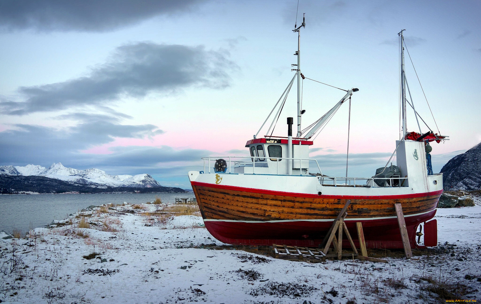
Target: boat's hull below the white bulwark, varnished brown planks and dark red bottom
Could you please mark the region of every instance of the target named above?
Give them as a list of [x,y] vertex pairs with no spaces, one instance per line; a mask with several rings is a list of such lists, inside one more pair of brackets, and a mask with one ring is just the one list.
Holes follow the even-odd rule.
[[[442,190],[396,196],[335,196],[220,186],[192,181],[206,228],[230,244],[316,246],[348,199],[346,225],[362,222],[370,248],[403,248],[394,203],[401,203],[411,246],[431,219]],[[354,241],[356,242],[356,241]]]

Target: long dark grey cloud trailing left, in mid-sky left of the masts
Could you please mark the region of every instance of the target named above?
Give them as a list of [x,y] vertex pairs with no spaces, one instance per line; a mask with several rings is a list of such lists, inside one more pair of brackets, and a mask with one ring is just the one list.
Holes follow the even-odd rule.
[[90,75],[48,85],[21,87],[25,101],[1,101],[5,114],[24,115],[86,105],[112,103],[122,96],[143,97],[151,91],[176,92],[190,86],[222,89],[236,65],[225,51],[203,46],[139,42],[118,47],[110,60]]

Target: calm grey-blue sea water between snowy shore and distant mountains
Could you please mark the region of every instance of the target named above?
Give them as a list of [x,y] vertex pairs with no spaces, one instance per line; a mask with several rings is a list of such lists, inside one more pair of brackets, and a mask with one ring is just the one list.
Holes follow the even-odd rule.
[[44,227],[54,219],[90,205],[147,203],[160,197],[164,203],[174,203],[176,197],[194,197],[190,193],[97,193],[97,194],[11,194],[0,195],[0,231],[12,233],[13,228],[25,234],[30,223],[33,228]]

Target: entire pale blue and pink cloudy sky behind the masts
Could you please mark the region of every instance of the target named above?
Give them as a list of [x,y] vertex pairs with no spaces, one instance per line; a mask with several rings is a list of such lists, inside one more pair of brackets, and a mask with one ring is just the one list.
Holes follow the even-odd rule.
[[[296,8],[294,0],[0,0],[0,165],[62,162],[190,188],[187,172],[202,170],[201,157],[248,155],[245,142],[295,73]],[[402,29],[416,110],[450,136],[432,143],[434,171],[481,141],[481,2],[299,0],[298,25],[303,13],[303,75],[359,89],[349,176],[374,175],[399,139]],[[308,79],[302,89],[305,127],[344,96]],[[285,117],[296,117],[295,93],[278,136]],[[329,176],[345,174],[348,110],[344,103],[311,146]],[[419,132],[410,109],[407,127]]]

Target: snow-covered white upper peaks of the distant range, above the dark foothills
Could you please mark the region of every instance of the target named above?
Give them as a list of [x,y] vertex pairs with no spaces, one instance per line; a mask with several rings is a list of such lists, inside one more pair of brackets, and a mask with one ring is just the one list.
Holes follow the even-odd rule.
[[110,175],[99,169],[78,170],[67,168],[62,163],[53,163],[45,168],[40,165],[0,166],[0,175],[44,176],[81,184],[100,184],[111,187],[160,187],[161,185],[148,174]]

